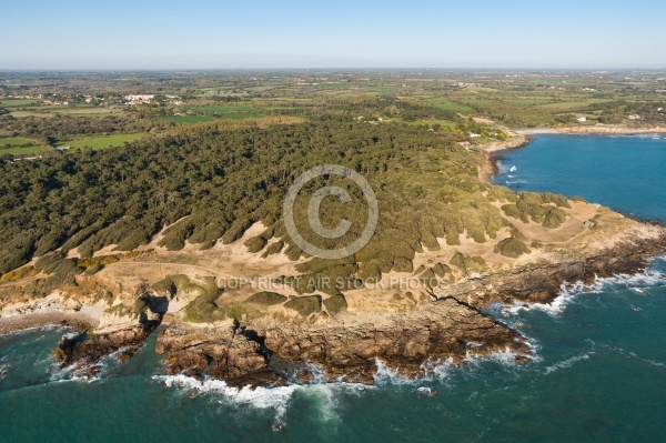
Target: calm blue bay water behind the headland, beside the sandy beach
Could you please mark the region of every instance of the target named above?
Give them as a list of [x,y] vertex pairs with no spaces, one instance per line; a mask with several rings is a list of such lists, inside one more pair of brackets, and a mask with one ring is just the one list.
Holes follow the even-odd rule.
[[495,158],[497,184],[581,195],[642,220],[666,221],[666,133],[534,135],[526,148]]

